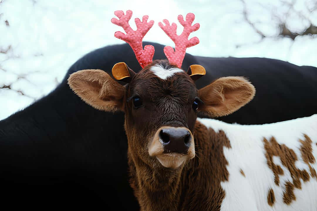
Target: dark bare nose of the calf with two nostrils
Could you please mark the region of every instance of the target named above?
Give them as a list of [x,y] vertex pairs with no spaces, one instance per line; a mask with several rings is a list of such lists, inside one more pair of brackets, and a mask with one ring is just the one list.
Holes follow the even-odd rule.
[[184,127],[163,128],[159,132],[159,138],[163,142],[164,152],[186,154],[190,147],[191,133]]

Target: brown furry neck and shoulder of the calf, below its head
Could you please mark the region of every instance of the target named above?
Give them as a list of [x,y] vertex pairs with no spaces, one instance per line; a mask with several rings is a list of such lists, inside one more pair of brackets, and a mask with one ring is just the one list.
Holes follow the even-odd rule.
[[[229,177],[223,147],[230,148],[230,141],[223,131],[216,133],[198,121],[194,137],[196,157],[179,169],[155,170],[129,159],[131,186],[141,210],[220,210],[225,197],[220,183]],[[170,179],[164,181],[166,174]]]

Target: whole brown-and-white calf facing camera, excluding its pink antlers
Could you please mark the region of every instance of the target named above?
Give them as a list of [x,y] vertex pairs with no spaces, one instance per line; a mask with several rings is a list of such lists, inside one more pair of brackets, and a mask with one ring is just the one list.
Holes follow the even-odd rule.
[[203,71],[156,60],[137,74],[115,65],[125,86],[101,70],[68,79],[94,108],[125,112],[141,210],[317,210],[317,115],[261,126],[197,119],[228,115],[255,94],[241,77],[197,90],[193,79]]

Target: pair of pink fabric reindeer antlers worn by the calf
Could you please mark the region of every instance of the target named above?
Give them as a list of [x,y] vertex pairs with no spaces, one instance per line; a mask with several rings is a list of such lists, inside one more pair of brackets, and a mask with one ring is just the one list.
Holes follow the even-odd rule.
[[[126,15],[124,15],[124,12],[122,10],[117,10],[114,12],[114,15],[116,15],[119,20],[116,18],[112,18],[111,22],[118,26],[121,26],[126,32],[126,34],[123,34],[122,32],[118,31],[114,33],[114,36],[126,41],[132,47],[133,52],[135,53],[135,56],[142,68],[146,65],[151,64],[154,56],[154,47],[152,45],[146,45],[143,49],[142,40],[145,34],[150,30],[150,28],[152,28],[154,21],[147,22],[148,16],[143,16],[142,22],[139,18],[136,18],[135,24],[137,26],[137,30],[134,31],[128,23],[132,16],[131,10],[127,10]],[[191,25],[194,19],[195,15],[193,13],[188,13],[186,15],[186,21],[184,21],[182,15],[178,16],[178,21],[184,27],[184,30],[180,35],[176,34],[176,23],[172,23],[172,25],[170,25],[168,20],[164,19],[164,26],[161,22],[159,22],[159,27],[162,28],[163,31],[175,43],[175,51],[170,46],[164,47],[165,56],[171,65],[176,65],[180,68],[183,63],[186,48],[195,46],[199,43],[199,39],[197,37],[193,37],[188,40],[189,34],[197,31],[200,26],[199,23]]]

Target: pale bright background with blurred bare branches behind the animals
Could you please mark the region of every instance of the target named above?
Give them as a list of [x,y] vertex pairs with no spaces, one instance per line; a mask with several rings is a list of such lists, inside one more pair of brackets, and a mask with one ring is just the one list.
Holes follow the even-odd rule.
[[[144,40],[174,46],[157,25],[188,12],[200,23],[200,44],[187,53],[267,57],[317,66],[317,0],[0,0],[0,120],[54,90],[84,54],[109,44],[122,29],[114,10],[149,15]],[[177,22],[178,23],[178,22]],[[178,33],[182,27],[178,23]]]

